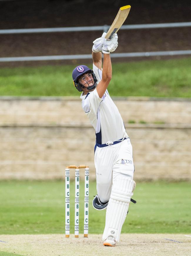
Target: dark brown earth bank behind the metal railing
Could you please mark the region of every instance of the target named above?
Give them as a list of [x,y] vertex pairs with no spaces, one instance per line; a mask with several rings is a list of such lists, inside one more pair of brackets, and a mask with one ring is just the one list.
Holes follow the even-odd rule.
[[[128,4],[131,5],[131,10],[124,24],[191,21],[191,4],[187,0],[180,2],[171,0],[17,0],[0,1],[0,29],[111,25],[118,9]],[[102,31],[0,35],[0,57],[90,54],[92,41],[101,35]],[[190,27],[120,30],[118,37],[117,53],[190,50],[191,48]],[[142,58],[123,60],[139,59]],[[17,62],[1,63],[0,66],[74,62],[75,60]]]

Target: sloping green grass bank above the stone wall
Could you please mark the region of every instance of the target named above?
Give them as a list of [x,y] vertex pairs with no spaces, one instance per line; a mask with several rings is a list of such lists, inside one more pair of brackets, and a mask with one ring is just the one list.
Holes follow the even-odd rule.
[[[79,96],[75,66],[1,68],[0,95]],[[111,96],[191,97],[190,70],[191,58],[114,63],[108,90]]]

